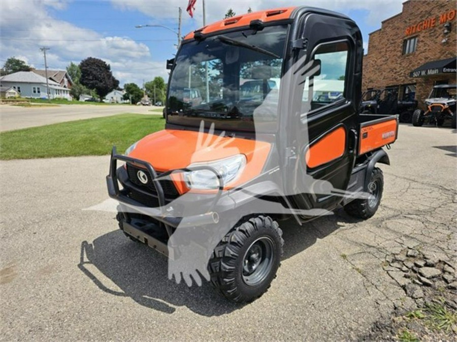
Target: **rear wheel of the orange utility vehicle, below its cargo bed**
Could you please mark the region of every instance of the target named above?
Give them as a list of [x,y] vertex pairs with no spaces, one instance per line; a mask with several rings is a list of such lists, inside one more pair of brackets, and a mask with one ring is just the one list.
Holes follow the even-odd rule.
[[381,169],[375,167],[368,183],[368,193],[372,196],[367,199],[358,199],[349,202],[344,210],[351,216],[367,219],[373,216],[381,203],[382,191],[384,189],[384,176]]

